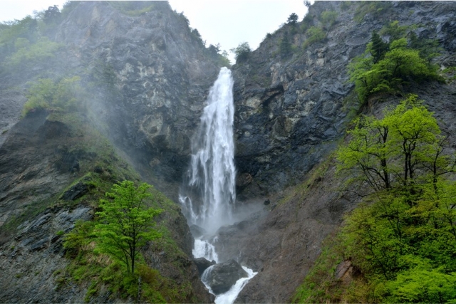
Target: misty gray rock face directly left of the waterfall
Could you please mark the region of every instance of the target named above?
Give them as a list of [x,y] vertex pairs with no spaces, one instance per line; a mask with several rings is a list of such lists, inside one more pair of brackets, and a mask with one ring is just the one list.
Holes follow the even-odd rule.
[[90,110],[142,176],[177,201],[219,66],[183,16],[165,1],[153,5],[130,17],[106,1],[81,2],[56,41],[68,46],[73,68],[109,77],[98,80]]

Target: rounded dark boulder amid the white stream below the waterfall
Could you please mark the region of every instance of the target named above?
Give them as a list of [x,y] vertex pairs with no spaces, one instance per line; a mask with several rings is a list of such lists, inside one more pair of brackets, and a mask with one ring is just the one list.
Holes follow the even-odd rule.
[[229,260],[207,268],[202,280],[210,286],[216,295],[219,295],[226,293],[239,278],[247,278],[248,276],[237,261]]

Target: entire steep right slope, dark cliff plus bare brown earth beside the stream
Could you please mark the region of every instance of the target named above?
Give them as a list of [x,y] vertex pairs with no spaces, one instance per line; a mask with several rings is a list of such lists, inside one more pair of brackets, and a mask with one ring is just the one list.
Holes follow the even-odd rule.
[[[237,256],[259,271],[238,303],[289,302],[321,252],[321,241],[360,199],[341,191],[343,181],[335,177],[331,156],[361,107],[348,81],[348,63],[363,53],[373,30],[398,20],[422,39],[437,39],[442,47],[437,63],[454,66],[452,8],[451,2],[316,2],[299,27],[282,27],[247,61],[234,65],[238,197],[260,203],[269,199],[265,208],[271,210],[219,231],[224,258]],[[325,21],[325,11],[337,17]],[[314,39],[308,31],[313,26],[322,28],[326,38],[306,43]],[[289,56],[282,56],[279,47],[284,35],[295,50]],[[412,83],[402,94],[417,93],[435,111],[445,134],[452,135],[455,92],[453,80]],[[360,110],[380,115],[385,105],[398,100],[400,95],[376,95]],[[298,186],[284,190],[294,184]]]

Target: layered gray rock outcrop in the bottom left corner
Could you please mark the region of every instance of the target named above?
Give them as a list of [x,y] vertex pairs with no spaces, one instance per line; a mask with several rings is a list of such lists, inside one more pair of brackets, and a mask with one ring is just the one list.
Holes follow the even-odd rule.
[[[60,288],[56,271],[69,262],[63,257],[61,232],[71,231],[77,220],[91,218],[92,211],[87,206],[73,210],[54,208],[21,224],[16,237],[0,246],[0,302],[83,302],[86,290],[76,284]],[[95,301],[105,302],[103,296]]]

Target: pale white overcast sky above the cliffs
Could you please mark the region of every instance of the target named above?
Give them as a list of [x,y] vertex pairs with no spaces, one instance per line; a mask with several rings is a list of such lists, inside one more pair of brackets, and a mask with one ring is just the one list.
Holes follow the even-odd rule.
[[[66,0],[0,0],[0,21],[33,16],[48,6],[62,9]],[[299,21],[306,14],[302,0],[170,0],[172,9],[183,12],[192,28],[197,28],[209,44],[220,43],[229,52],[239,43],[248,42],[252,49],[259,46],[266,33],[276,31],[292,13]],[[234,61],[234,54],[229,52]]]

